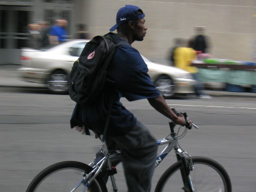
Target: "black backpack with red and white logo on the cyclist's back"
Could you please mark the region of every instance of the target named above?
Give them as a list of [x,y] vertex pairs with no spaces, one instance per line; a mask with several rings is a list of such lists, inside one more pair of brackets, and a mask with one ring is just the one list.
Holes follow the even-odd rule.
[[113,41],[117,37],[114,33],[107,33],[95,36],[85,44],[68,76],[69,96],[72,100],[81,105],[90,105],[95,101],[103,89],[107,67],[116,46],[129,44],[124,40],[115,44]]

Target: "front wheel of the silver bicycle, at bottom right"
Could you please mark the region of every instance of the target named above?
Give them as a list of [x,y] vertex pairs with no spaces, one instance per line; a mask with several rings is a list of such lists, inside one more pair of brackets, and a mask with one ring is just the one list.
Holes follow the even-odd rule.
[[[194,169],[189,174],[194,192],[232,191],[230,178],[222,165],[208,157],[194,156],[191,158]],[[179,160],[165,170],[156,184],[155,192],[186,191],[183,188],[184,184],[179,171],[181,167],[181,160]]]

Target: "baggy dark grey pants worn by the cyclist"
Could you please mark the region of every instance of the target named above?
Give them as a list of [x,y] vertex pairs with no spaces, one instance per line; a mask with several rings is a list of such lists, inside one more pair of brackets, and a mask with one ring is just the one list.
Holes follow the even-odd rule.
[[116,149],[117,146],[121,150],[121,159],[113,156],[111,162],[115,166],[120,160],[122,161],[128,192],[150,191],[157,143],[148,129],[137,121],[134,128],[126,135],[108,137],[107,142],[110,149]]

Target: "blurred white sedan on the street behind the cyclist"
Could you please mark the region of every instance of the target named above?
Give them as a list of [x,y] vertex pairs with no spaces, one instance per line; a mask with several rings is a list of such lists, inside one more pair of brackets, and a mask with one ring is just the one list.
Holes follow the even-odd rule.
[[[46,83],[54,93],[68,92],[67,75],[88,41],[70,40],[42,50],[21,49],[20,77],[29,82]],[[142,57],[147,64],[148,74],[162,95],[170,97],[173,94],[194,92],[194,80],[190,73]]]

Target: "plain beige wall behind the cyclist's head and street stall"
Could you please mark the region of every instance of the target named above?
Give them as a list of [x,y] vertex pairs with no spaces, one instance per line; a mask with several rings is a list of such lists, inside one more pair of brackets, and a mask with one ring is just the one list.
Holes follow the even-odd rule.
[[[173,39],[190,38],[195,26],[205,26],[214,58],[250,60],[256,48],[256,0],[76,0],[79,19],[93,35],[104,34],[115,23],[125,4],[139,6],[146,14],[147,34],[134,42],[143,55],[164,61]],[[81,6],[82,5],[82,6]],[[79,9],[79,7],[78,7]],[[77,10],[78,10],[77,9]],[[82,10],[81,10],[82,9]],[[254,16],[253,16],[254,15]]]

